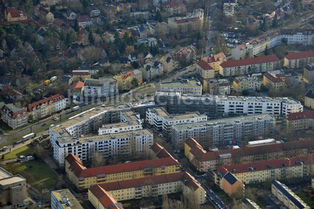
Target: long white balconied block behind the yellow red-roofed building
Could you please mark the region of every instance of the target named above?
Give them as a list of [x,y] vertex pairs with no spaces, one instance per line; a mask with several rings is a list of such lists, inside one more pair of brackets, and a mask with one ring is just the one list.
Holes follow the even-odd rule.
[[90,160],[95,152],[106,157],[129,154],[131,151],[142,152],[153,145],[153,133],[148,129],[127,131],[88,137],[66,136],[53,141],[53,158],[59,165],[64,165],[64,158],[69,153],[82,162]]

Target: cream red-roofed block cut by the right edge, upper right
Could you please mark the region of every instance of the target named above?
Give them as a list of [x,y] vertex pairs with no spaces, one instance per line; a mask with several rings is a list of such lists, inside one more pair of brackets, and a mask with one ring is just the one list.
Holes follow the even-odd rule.
[[314,51],[302,51],[290,53],[284,56],[284,66],[288,69],[305,66],[314,63]]

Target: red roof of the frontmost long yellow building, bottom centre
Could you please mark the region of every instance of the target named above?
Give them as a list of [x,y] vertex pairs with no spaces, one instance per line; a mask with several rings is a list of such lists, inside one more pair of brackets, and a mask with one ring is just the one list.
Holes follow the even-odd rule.
[[192,187],[194,190],[197,190],[198,188],[202,188],[201,185],[196,183],[194,181],[194,178],[187,172],[179,172],[179,173],[173,173],[173,174],[164,174],[164,175],[158,175],[158,176],[148,176],[148,177],[143,177],[143,178],[138,178],[138,179],[109,182],[109,183],[99,184],[99,186],[106,191],[113,191],[113,190],[135,188],[135,187],[153,185],[153,184],[166,184],[170,182],[184,181],[184,180],[187,180],[186,185],[188,187]]

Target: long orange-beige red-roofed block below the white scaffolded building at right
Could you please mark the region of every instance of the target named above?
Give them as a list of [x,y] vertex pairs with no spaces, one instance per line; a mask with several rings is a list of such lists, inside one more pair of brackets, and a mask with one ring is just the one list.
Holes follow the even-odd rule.
[[221,165],[250,163],[256,161],[293,158],[314,153],[314,139],[268,144],[257,147],[241,147],[206,152],[194,139],[189,137],[184,144],[184,154],[191,161],[198,159],[201,172],[217,169]]

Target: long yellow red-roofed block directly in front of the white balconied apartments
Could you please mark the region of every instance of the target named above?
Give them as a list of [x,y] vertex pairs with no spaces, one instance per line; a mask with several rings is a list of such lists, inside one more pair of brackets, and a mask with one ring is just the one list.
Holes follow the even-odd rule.
[[148,175],[180,172],[180,164],[172,157],[87,169],[71,153],[65,158],[65,162],[68,177],[79,190],[86,190],[102,182],[137,179]]

